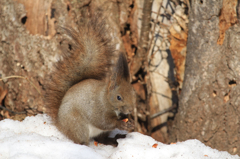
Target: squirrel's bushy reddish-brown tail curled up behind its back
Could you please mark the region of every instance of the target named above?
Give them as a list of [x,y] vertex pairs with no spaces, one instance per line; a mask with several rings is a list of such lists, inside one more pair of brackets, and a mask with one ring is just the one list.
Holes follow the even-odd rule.
[[67,90],[84,79],[104,79],[111,66],[113,46],[102,18],[91,18],[78,31],[61,28],[70,37],[62,59],[54,66],[46,84],[46,113],[56,119]]

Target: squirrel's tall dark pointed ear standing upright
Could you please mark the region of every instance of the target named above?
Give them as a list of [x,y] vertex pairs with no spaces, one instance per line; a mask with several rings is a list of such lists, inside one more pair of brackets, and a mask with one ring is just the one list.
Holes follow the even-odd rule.
[[128,69],[127,59],[123,53],[120,53],[117,63],[113,67],[109,88],[114,89],[116,86],[120,85],[122,80],[130,82],[130,73]]

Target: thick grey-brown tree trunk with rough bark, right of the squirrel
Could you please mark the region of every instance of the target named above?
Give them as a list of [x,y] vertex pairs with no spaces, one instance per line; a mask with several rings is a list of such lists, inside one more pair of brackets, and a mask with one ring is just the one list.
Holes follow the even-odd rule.
[[229,27],[217,44],[222,4],[190,1],[185,80],[170,139],[196,138],[239,155],[240,27]]

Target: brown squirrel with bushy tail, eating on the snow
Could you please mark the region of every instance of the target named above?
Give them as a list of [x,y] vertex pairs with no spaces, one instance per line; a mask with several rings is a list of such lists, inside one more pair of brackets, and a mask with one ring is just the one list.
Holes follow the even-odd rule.
[[121,118],[135,104],[128,63],[122,53],[113,63],[115,51],[104,20],[92,18],[78,31],[62,29],[71,40],[47,84],[47,114],[79,144],[88,145],[90,138],[115,128],[131,129],[133,123]]

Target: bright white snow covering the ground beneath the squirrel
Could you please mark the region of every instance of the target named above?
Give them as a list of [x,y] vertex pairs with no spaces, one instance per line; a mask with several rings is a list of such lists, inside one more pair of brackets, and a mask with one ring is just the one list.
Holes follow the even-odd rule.
[[[152,145],[157,144],[156,148]],[[0,121],[1,159],[239,159],[225,151],[205,146],[198,140],[167,145],[134,132],[118,139],[118,147],[93,142],[89,146],[73,143],[61,134],[47,115],[24,121]]]

